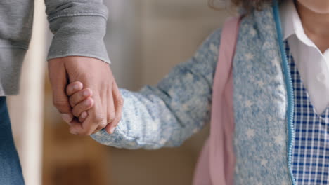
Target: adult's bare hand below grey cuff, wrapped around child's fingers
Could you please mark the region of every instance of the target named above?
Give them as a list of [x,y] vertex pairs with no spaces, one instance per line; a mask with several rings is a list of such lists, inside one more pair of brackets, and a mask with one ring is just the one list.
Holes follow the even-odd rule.
[[[52,59],[49,60],[49,79],[53,89],[53,104],[64,121],[69,123],[71,133],[91,135],[103,128],[108,133],[114,131],[121,119],[123,100],[107,63],[91,57]],[[81,82],[83,88],[91,89],[92,96],[72,109],[65,90],[68,83],[76,81]],[[86,107],[91,107],[88,117],[79,123],[76,118]]]

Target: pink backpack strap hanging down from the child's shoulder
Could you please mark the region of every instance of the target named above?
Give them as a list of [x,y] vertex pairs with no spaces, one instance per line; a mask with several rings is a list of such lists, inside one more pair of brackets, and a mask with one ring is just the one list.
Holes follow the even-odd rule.
[[[221,33],[219,60],[214,76],[209,139],[210,177],[213,184],[233,184],[236,158],[233,151],[233,57],[240,18],[228,18]],[[221,174],[221,175],[219,175]]]

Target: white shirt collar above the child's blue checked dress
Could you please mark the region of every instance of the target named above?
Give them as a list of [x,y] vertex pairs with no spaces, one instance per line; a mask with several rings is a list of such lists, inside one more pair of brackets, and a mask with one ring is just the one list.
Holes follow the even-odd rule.
[[329,50],[324,55],[307,37],[293,0],[280,6],[283,39],[288,41],[304,87],[318,114],[329,104]]

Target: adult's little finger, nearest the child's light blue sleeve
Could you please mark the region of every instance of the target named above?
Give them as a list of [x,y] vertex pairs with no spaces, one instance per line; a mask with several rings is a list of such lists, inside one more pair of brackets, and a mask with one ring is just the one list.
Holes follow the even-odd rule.
[[112,134],[115,130],[115,127],[121,120],[122,116],[122,107],[124,104],[124,100],[122,99],[121,93],[119,88],[117,87],[117,83],[114,82],[114,85],[112,87],[112,97],[115,104],[115,119],[112,121],[112,123],[108,124],[105,128],[106,132],[109,134]]

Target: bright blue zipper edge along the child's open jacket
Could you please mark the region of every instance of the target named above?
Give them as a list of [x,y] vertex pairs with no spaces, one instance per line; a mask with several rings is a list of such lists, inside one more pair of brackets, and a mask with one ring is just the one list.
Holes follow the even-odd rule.
[[287,121],[288,121],[288,169],[290,172],[290,179],[292,181],[292,185],[295,185],[295,179],[292,174],[292,166],[291,166],[291,158],[292,158],[292,147],[293,141],[295,139],[295,130],[293,125],[294,119],[294,94],[292,88],[292,80],[290,75],[290,67],[288,65],[287,54],[285,53],[285,48],[283,46],[283,36],[280,22],[280,13],[278,1],[275,2],[273,6],[274,19],[276,22],[276,32],[278,34],[278,44],[280,47],[281,53],[281,61],[283,67],[283,74],[285,76],[285,87],[287,90],[287,98],[288,98],[288,106],[287,106]]

